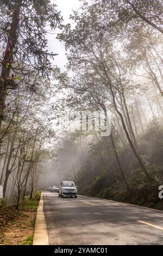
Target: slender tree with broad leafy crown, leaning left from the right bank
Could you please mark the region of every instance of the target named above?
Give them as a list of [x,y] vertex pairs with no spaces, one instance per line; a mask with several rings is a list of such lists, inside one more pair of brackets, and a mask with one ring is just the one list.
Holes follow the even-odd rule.
[[[89,76],[91,77],[90,80],[98,80],[98,84],[101,84],[105,95],[108,96],[114,105],[116,113],[120,116],[124,132],[126,133],[134,156],[139,162],[142,171],[145,173],[147,180],[151,181],[151,175],[129,136],[123,115],[116,101],[116,96],[122,95],[125,105],[124,92],[126,92],[127,89],[131,89],[129,78],[127,77],[127,70],[125,68],[123,69],[120,65],[121,58],[117,57],[120,56],[120,50],[118,50],[116,46],[117,39],[115,35],[112,35],[117,28],[114,30],[114,27],[111,26],[112,32],[110,32],[109,28],[110,38],[108,38],[108,31],[103,27],[101,28],[103,19],[101,19],[101,16],[98,16],[97,5],[92,5],[88,8],[84,6],[83,10],[84,13],[82,16],[77,13],[73,16],[73,20],[76,21],[76,29],[71,29],[69,25],[66,25],[65,32],[59,35],[59,38],[65,41],[68,51],[68,68],[72,69],[74,72],[76,70],[80,73],[83,72],[83,77]],[[107,11],[108,9],[106,12]],[[110,58],[108,58],[108,56]],[[119,63],[119,65],[117,65],[117,63]],[[122,75],[119,66],[121,66],[123,70],[123,79],[120,79]],[[97,85],[92,82],[92,84],[87,83],[87,86],[96,88]]]

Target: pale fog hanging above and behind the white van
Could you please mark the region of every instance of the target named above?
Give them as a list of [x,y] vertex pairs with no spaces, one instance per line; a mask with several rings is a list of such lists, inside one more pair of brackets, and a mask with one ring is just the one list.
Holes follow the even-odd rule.
[[55,160],[46,160],[40,163],[37,189],[47,190],[49,186],[59,185],[61,181],[76,181],[82,167],[90,159],[90,144],[95,136],[85,138],[62,138],[62,147],[57,150]]

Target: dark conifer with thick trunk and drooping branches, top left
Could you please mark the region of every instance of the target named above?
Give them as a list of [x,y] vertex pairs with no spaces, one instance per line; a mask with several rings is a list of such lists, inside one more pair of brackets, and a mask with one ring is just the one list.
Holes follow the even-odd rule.
[[[46,50],[46,26],[55,29],[61,21],[56,5],[49,0],[0,1],[0,33],[4,55],[1,58],[0,126],[5,99],[10,86],[16,88],[17,79],[24,80],[36,72],[46,77],[52,70],[49,57],[56,54]],[[11,72],[13,72],[11,74]],[[18,74],[18,76],[16,76]]]

